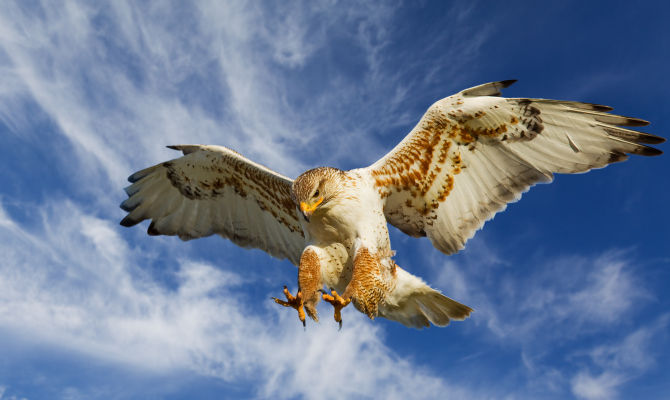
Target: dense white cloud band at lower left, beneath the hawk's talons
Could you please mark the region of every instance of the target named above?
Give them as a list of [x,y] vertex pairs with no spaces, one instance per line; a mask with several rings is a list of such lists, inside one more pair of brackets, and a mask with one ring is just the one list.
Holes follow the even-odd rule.
[[24,341],[153,373],[258,379],[263,397],[476,397],[395,355],[358,313],[345,315],[341,332],[327,314],[303,331],[294,313],[270,302],[250,308],[244,288],[253,282],[205,262],[170,261],[171,250],[155,242],[162,264],[178,264],[168,289],[138,267],[149,261],[141,249],[73,203],[47,207],[32,230],[0,215],[10,221],[0,226],[0,327]]

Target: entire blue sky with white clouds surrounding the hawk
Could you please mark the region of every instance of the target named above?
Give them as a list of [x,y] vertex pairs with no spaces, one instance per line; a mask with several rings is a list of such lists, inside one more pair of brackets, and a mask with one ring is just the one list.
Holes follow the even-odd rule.
[[434,101],[504,79],[668,137],[668,19],[627,1],[0,2],[0,399],[667,398],[668,155],[556,176],[454,256],[392,228],[399,265],[474,308],[446,328],[347,307],[341,331],[303,329],[270,300],[297,286],[288,261],[149,237],[118,205],[166,145],[291,177],[363,167]]

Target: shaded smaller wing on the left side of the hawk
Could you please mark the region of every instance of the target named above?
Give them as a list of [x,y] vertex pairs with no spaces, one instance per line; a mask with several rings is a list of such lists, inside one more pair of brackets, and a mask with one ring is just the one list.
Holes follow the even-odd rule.
[[183,157],[131,175],[123,226],[150,219],[150,235],[219,234],[298,264],[305,239],[292,180],[222,146],[169,146]]

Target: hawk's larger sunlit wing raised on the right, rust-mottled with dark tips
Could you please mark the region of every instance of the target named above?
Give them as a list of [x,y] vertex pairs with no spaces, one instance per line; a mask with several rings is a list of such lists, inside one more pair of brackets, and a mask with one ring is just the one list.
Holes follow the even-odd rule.
[[623,128],[648,122],[610,107],[545,99],[507,99],[488,83],[433,104],[390,153],[367,168],[384,198],[386,219],[428,236],[451,254],[475,231],[553,173],[586,172],[653,156],[665,139]]

